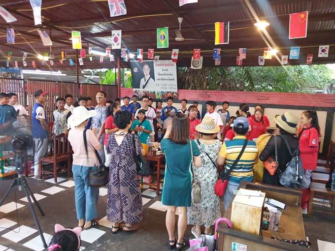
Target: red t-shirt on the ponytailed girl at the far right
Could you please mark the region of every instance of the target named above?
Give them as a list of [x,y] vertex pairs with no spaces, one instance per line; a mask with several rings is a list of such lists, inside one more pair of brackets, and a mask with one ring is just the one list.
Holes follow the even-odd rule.
[[310,147],[319,149],[319,134],[316,128],[306,126],[300,137],[299,144],[299,149],[302,151],[300,157],[302,158],[303,169],[315,170],[318,161],[318,151],[313,153],[303,153],[303,150],[307,150]]

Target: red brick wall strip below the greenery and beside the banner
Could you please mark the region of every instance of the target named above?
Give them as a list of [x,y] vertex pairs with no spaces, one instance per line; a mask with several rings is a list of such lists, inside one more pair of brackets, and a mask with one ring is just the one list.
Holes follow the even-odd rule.
[[[133,89],[121,88],[121,97],[133,96]],[[274,104],[310,107],[335,107],[334,94],[258,93],[178,90],[178,99],[216,102],[229,101],[250,104]]]

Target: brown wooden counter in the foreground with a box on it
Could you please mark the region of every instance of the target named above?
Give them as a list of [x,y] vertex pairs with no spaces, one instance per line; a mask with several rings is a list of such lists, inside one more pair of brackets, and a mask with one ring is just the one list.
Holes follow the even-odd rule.
[[[239,188],[261,190],[266,196],[286,204],[286,209],[281,210],[278,231],[262,230],[261,235],[245,233],[236,229],[229,229],[225,223],[220,223],[217,232],[218,251],[231,250],[232,242],[247,246],[247,250],[262,251],[300,251],[304,247],[292,245],[278,240],[270,239],[271,236],[289,240],[306,240],[302,220],[301,199],[302,192],[298,189],[269,186],[253,182],[242,182]],[[234,199],[234,198],[233,198]],[[232,203],[224,214],[224,218],[231,219]],[[234,227],[234,226],[233,226]]]

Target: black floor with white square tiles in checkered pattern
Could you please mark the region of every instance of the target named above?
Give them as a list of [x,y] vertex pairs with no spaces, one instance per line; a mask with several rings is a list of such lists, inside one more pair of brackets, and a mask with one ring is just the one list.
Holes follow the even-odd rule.
[[[47,243],[54,234],[55,223],[60,223],[66,227],[75,227],[78,223],[75,214],[74,182],[72,178],[59,177],[56,184],[53,181],[53,179],[36,180],[27,178],[34,196],[45,213],[44,217],[40,216],[34,207]],[[11,181],[0,182],[0,198],[10,184]],[[27,198],[24,197],[22,191],[16,191],[16,193],[15,195],[11,193],[6,199],[5,205],[0,208],[0,251],[44,251]],[[105,216],[106,194],[107,189],[100,188],[98,202],[100,225],[82,232],[82,250],[167,250],[167,230],[165,226],[167,207],[161,202],[162,196],[156,195],[156,190],[149,188],[142,192],[144,218],[140,222],[140,229],[133,234],[123,231],[117,235],[110,233],[112,223]],[[15,204],[15,196],[20,203]],[[321,209],[321,213],[318,209]],[[330,208],[315,206],[312,217],[310,219],[304,218],[306,235],[310,237],[310,241],[313,243],[310,250],[316,251],[318,247],[319,251],[335,250],[332,246],[335,244],[328,242],[334,240],[334,234],[329,233],[335,232],[335,216],[329,211]],[[324,226],[321,226],[322,224]],[[186,239],[192,238],[191,227],[188,226],[186,230]]]

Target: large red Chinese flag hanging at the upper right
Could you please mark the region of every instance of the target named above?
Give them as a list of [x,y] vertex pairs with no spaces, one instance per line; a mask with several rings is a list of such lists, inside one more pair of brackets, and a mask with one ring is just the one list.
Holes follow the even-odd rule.
[[307,16],[307,11],[290,14],[289,39],[307,36]]

